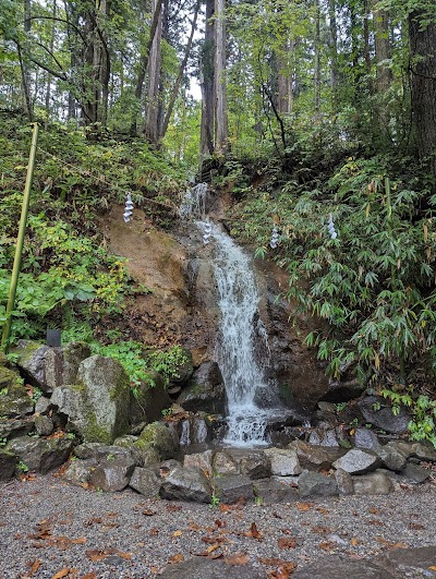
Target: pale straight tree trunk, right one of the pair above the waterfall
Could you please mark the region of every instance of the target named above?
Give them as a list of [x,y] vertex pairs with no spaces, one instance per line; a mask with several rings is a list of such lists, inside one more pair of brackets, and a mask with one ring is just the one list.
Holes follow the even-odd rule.
[[229,149],[226,81],[226,0],[215,0],[215,153]]

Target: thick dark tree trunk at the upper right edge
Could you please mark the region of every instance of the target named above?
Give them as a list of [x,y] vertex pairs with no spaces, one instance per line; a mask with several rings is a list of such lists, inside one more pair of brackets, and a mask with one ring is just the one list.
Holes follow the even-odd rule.
[[436,176],[436,24],[424,11],[409,15],[412,111],[420,158]]

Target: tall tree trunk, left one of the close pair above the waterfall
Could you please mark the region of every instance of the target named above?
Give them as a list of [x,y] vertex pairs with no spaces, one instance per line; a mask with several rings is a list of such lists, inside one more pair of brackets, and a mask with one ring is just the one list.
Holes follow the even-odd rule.
[[201,165],[204,157],[214,153],[215,35],[214,22],[211,21],[214,13],[214,0],[206,0],[205,40],[199,63],[202,86]]

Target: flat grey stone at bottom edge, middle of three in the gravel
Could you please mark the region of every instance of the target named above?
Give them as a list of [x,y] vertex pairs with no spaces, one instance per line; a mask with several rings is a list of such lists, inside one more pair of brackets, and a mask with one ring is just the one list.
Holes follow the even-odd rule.
[[316,563],[298,568],[292,579],[398,579],[371,560],[356,560],[339,555],[320,557]]

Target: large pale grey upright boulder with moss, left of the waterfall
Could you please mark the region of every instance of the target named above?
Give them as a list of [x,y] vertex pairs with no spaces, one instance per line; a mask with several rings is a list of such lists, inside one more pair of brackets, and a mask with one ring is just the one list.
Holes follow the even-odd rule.
[[130,382],[117,360],[93,355],[78,367],[78,385],[55,389],[51,403],[68,417],[68,429],[86,442],[110,444],[129,430]]

